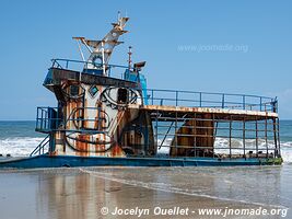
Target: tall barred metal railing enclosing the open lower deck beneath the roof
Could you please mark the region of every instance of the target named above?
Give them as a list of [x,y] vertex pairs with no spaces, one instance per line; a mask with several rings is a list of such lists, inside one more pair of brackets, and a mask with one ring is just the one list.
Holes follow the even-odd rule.
[[202,118],[199,114],[186,113],[183,117],[163,115],[157,110],[151,114],[155,145],[159,150],[165,149],[168,155],[174,150],[185,150],[186,157],[280,155],[278,118],[243,115],[241,119],[233,120],[232,116],[218,117],[212,114],[210,118]]

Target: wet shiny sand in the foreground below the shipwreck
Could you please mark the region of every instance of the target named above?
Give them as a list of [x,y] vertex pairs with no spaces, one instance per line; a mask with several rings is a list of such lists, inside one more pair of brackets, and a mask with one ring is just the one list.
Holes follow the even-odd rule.
[[[283,174],[288,175],[283,177]],[[290,172],[276,168],[5,171],[0,172],[0,177],[3,178],[0,181],[0,210],[3,216],[1,218],[79,219],[115,218],[113,214],[117,209],[137,209],[137,212],[139,209],[149,209],[149,215],[143,215],[142,218],[153,218],[155,207],[176,207],[176,210],[290,207],[291,200],[284,198],[291,194],[287,176],[291,177]],[[17,208],[14,209],[13,206]],[[108,208],[106,216],[101,212],[103,207]],[[179,215],[172,218],[196,218],[195,216]],[[131,217],[122,215],[118,218]],[[137,218],[137,215],[132,218]],[[160,215],[156,218],[170,216]]]

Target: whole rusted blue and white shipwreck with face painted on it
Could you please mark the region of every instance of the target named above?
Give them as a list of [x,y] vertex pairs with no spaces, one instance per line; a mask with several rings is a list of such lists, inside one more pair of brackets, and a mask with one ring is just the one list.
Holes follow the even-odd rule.
[[132,65],[131,47],[128,66],[109,65],[128,20],[102,41],[74,37],[82,53],[83,61],[52,59],[44,87],[57,106],[36,116],[47,137],[0,168],[281,164],[277,99],[148,89],[145,61]]

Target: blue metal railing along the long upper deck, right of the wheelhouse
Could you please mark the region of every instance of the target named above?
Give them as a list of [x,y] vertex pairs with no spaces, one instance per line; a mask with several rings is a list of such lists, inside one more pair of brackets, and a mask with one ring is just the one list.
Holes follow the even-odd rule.
[[151,105],[174,105],[190,107],[215,107],[260,112],[278,112],[277,97],[272,99],[259,95],[157,89],[148,89],[147,93],[148,102]]

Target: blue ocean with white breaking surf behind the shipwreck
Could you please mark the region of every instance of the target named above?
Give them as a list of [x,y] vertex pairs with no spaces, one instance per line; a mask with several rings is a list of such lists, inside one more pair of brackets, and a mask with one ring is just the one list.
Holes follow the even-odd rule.
[[[28,155],[46,135],[35,131],[35,122],[0,122],[0,154],[12,157]],[[159,139],[159,145],[162,139]],[[171,143],[170,138],[164,141],[164,146]],[[284,163],[292,163],[292,120],[280,122],[281,154]],[[233,139],[235,146],[241,146],[242,141]],[[217,138],[215,147],[226,147],[229,139]],[[260,142],[260,141],[259,141]],[[247,142],[248,143],[248,142]],[[254,143],[250,141],[249,143]],[[271,141],[272,143],[272,141]],[[260,148],[260,145],[259,145]],[[262,141],[262,149],[265,142]],[[166,153],[164,147],[159,151]],[[227,151],[226,151],[227,152]],[[236,151],[235,151],[236,152]]]

